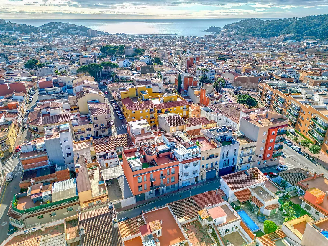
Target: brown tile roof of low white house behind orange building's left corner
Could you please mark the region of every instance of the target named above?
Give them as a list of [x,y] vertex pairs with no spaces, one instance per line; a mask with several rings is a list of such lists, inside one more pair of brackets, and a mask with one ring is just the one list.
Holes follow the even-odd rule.
[[125,133],[94,139],[93,146],[96,153],[101,153],[115,150],[117,147],[123,147],[123,149],[131,148],[133,147],[133,142],[131,141],[130,136]]

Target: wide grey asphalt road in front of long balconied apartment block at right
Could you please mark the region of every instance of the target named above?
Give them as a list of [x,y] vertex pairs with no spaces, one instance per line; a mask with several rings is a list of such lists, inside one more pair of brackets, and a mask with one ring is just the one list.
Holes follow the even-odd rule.
[[[297,144],[297,146],[298,146],[298,144]],[[309,161],[302,154],[293,150],[290,146],[287,146],[284,144],[284,148],[282,149],[282,152],[285,154],[285,156],[283,156],[283,158],[285,160],[285,164],[288,166],[288,169],[300,167],[300,168],[309,170],[311,172],[317,172],[319,174],[328,175],[328,171],[326,169],[321,167],[319,164],[315,164],[315,163]],[[277,173],[276,167],[277,166],[261,168],[261,171]]]

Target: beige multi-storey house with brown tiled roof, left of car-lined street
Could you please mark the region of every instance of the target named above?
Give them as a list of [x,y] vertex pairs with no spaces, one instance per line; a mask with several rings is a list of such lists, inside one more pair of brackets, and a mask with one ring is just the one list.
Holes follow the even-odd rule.
[[[112,132],[111,108],[107,103],[88,102],[94,136],[107,136]],[[90,133],[89,133],[90,134]]]

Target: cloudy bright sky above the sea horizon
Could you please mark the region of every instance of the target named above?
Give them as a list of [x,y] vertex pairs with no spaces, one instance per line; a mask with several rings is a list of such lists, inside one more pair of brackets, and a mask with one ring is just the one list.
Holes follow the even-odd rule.
[[0,0],[3,19],[291,18],[328,13],[328,0]]

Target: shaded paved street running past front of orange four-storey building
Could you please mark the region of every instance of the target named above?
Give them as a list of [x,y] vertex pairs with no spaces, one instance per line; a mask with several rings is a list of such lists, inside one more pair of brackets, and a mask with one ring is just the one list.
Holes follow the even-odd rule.
[[[135,217],[140,215],[141,211],[145,211],[154,207],[159,207],[162,205],[165,205],[166,203],[169,202],[173,202],[173,201],[177,201],[179,199],[183,199],[186,197],[189,197],[190,194],[191,195],[197,195],[206,191],[211,191],[211,190],[215,190],[216,188],[220,187],[220,181],[219,180],[215,180],[213,182],[209,182],[209,183],[205,183],[204,185],[199,185],[199,186],[195,186],[189,190],[186,191],[182,191],[182,192],[178,192],[178,193],[173,193],[173,194],[167,194],[166,197],[163,197],[159,200],[156,200],[154,202],[145,204],[143,206],[128,210],[128,211],[124,211],[124,212],[120,212],[117,214],[118,219],[120,218],[124,218],[124,217]],[[190,193],[191,192],[191,193]]]

